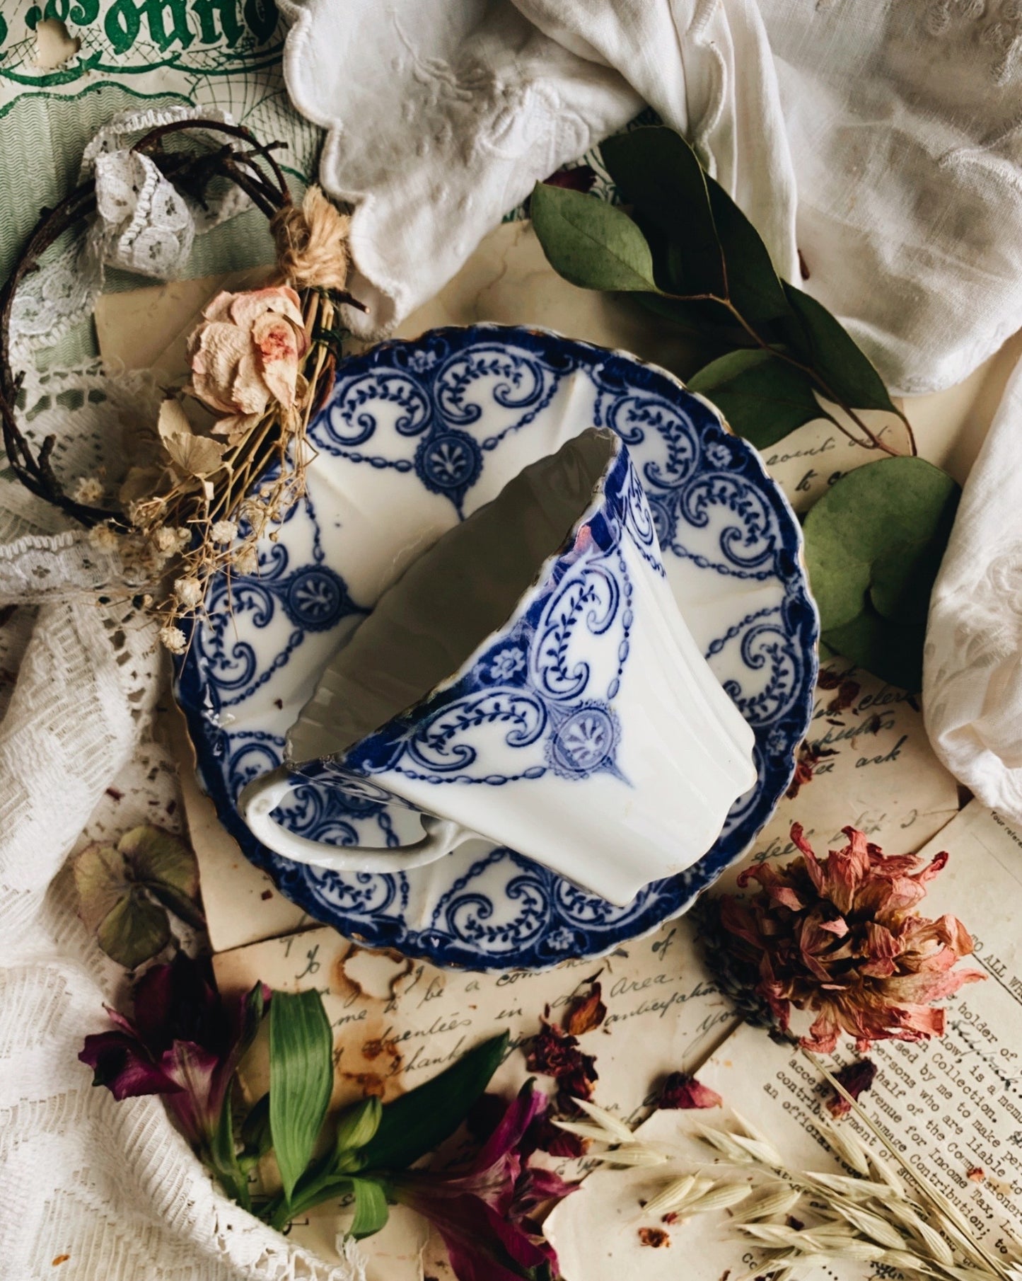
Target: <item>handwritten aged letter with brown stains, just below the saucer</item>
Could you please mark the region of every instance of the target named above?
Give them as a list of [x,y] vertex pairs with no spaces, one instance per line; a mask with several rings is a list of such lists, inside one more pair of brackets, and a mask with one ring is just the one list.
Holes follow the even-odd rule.
[[[319,989],[336,1036],[332,1107],[369,1093],[391,1099],[505,1030],[517,1047],[535,1034],[546,1008],[557,1020],[579,986],[598,975],[607,1017],[581,1038],[581,1048],[596,1056],[597,1102],[637,1120],[669,1072],[697,1067],[735,1022],[684,920],[602,959],[569,961],[540,974],[439,970],[397,953],[368,952],[330,929],[223,952],[214,968],[227,994],[259,980],[286,991]],[[512,1049],[493,1089],[510,1098],[528,1076],[525,1056]],[[268,1084],[263,1040],[246,1063],[243,1088],[256,1099]],[[341,1204],[328,1204],[293,1231],[329,1255],[343,1222]],[[421,1223],[397,1214],[392,1230],[364,1243],[369,1281],[418,1281],[424,1268],[429,1276],[448,1276],[435,1241],[426,1249],[428,1267],[423,1263],[424,1243]]]

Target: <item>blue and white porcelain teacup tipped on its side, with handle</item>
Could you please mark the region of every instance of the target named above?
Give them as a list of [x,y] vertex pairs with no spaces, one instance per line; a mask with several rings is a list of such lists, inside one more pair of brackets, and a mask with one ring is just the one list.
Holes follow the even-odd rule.
[[[589,429],[443,534],[330,661],[239,810],[270,849],[394,872],[484,838],[626,904],[713,844],[753,734],[666,583],[621,439]],[[314,779],[421,812],[397,849],[273,817]]]

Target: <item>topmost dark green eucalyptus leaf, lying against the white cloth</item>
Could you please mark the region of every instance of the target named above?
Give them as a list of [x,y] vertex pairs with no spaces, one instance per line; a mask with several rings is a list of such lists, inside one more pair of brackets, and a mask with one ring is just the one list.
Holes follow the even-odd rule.
[[706,174],[681,135],[666,126],[647,126],[607,138],[599,150],[624,199],[667,234],[671,292],[726,296],[724,252]]

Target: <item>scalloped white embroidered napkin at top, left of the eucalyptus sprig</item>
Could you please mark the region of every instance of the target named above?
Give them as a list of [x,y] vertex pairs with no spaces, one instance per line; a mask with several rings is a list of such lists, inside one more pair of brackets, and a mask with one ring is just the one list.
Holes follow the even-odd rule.
[[444,284],[537,179],[643,106],[685,131],[793,275],[794,182],[754,0],[284,0],[320,182],[351,201],[350,314],[378,336]]

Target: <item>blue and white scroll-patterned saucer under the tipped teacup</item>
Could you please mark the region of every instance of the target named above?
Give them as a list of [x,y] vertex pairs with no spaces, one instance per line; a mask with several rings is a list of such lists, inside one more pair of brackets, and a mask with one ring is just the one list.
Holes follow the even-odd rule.
[[[329,655],[443,530],[587,427],[629,446],[669,580],[710,665],[756,734],[758,781],[693,867],[612,907],[511,849],[476,840],[398,875],[282,858],[236,798],[280,763]],[[684,912],[740,857],[788,787],[809,722],[817,616],[802,537],[756,451],[706,401],[631,356],[533,329],[476,325],[382,343],[345,361],[310,429],[307,496],[256,575],[211,589],[177,697],[199,778],[246,857],[312,917],[437,965],[539,968],[599,956]],[[411,812],[310,781],[282,810],[296,833],[398,845]]]

